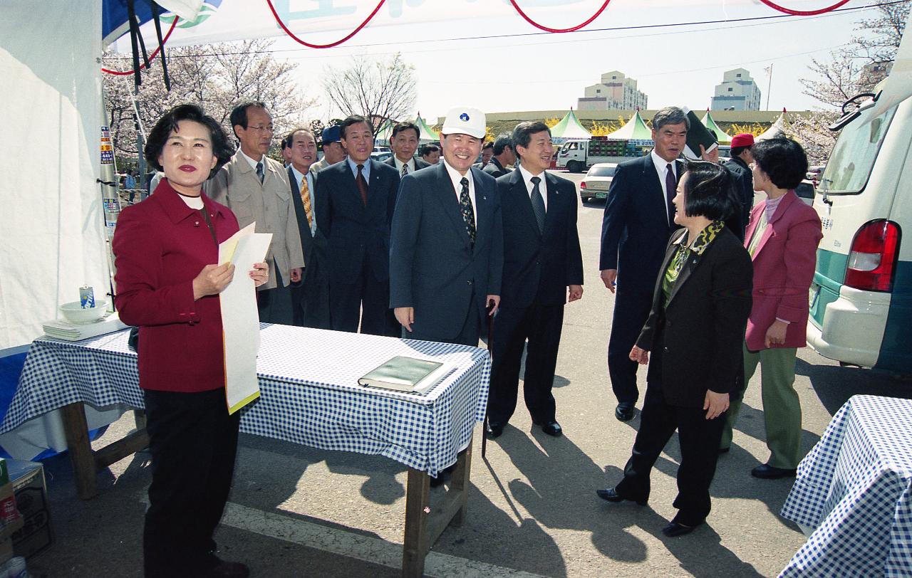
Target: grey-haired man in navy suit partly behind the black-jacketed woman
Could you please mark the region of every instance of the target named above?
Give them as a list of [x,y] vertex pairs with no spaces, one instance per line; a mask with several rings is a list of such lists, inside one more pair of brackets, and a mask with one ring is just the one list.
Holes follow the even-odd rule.
[[662,108],[652,119],[655,148],[646,157],[617,165],[602,220],[599,269],[615,298],[608,341],[608,374],[617,397],[615,417],[634,416],[639,397],[637,362],[629,358],[649,314],[652,288],[674,222],[674,198],[683,163],[689,120],[677,107]]

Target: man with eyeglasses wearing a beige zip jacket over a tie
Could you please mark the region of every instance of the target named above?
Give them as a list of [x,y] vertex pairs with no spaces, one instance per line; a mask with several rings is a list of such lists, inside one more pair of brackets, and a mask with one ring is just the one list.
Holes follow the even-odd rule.
[[231,113],[240,147],[232,160],[206,181],[206,194],[232,210],[241,228],[256,223],[256,232],[271,232],[266,255],[275,275],[257,294],[260,321],[292,325],[292,283],[300,283],[304,252],[297,227],[288,173],[280,162],[266,156],[273,140],[273,118],[263,102],[247,101]]

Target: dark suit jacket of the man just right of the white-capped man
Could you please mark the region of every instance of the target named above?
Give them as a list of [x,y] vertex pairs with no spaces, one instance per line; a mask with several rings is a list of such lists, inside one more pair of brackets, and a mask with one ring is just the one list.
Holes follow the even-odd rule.
[[513,170],[497,180],[503,213],[504,307],[565,304],[567,285],[583,284],[576,186],[548,172],[539,186],[546,187],[548,198],[544,233],[538,231],[523,173]]

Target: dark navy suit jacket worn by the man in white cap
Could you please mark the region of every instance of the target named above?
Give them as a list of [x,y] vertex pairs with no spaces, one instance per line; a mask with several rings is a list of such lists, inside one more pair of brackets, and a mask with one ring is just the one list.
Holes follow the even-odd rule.
[[485,297],[501,294],[500,194],[492,176],[470,170],[475,186],[474,249],[459,197],[442,163],[402,179],[393,216],[389,306],[414,307],[412,327],[441,340],[459,335],[471,307],[483,320]]

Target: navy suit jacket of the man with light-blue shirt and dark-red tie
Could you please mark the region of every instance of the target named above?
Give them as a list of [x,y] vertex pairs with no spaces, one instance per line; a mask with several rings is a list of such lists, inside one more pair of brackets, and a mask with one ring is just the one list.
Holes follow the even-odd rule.
[[370,163],[368,206],[347,161],[316,173],[316,220],[326,236],[329,279],[350,284],[358,279],[365,255],[377,281],[389,279],[389,223],[396,208],[399,173],[377,160]]

